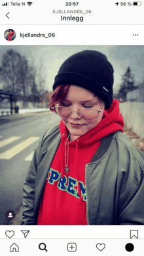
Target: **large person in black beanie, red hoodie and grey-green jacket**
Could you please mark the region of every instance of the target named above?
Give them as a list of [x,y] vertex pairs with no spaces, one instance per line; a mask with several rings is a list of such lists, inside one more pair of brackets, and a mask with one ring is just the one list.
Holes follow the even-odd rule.
[[23,189],[21,225],[144,225],[144,155],[123,134],[113,66],[84,50],[63,62]]

